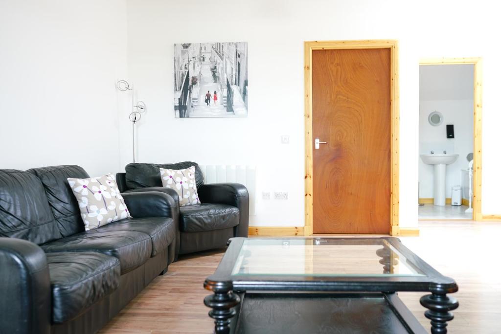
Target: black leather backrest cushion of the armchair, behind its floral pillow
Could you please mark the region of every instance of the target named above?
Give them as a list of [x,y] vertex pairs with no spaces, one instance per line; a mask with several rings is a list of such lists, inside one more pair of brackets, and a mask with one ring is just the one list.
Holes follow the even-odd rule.
[[125,166],[125,182],[127,189],[137,189],[144,187],[161,187],[160,168],[165,169],[186,169],[195,166],[196,186],[203,184],[202,170],[196,162],[184,161],[175,164],[143,164],[132,163]]

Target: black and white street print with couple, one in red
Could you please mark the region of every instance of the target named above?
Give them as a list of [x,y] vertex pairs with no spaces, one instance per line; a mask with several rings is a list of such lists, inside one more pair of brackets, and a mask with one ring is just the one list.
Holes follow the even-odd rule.
[[246,117],[247,42],[174,44],[176,118]]

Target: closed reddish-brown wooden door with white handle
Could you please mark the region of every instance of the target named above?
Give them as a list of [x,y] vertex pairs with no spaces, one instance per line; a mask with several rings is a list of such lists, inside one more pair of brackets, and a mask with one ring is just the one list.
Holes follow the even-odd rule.
[[312,53],[313,233],[387,234],[391,50]]

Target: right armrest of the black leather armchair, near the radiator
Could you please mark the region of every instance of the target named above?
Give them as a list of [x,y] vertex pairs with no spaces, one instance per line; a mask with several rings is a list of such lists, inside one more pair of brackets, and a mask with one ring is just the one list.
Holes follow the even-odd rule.
[[249,225],[249,193],[239,183],[211,183],[197,187],[198,198],[202,203],[217,203],[236,206],[240,220],[234,227],[235,237],[246,237]]

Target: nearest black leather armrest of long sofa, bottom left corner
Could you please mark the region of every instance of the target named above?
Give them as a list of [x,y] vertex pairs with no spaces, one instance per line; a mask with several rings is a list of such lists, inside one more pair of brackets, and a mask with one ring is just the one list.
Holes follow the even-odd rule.
[[45,252],[28,240],[0,237],[0,328],[51,331],[52,293]]

